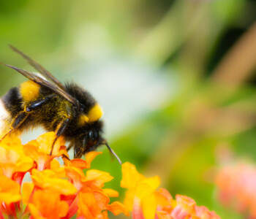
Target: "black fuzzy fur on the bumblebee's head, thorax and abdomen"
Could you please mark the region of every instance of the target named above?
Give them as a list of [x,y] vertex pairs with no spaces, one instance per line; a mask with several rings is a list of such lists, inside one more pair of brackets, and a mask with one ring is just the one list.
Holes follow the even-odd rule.
[[[29,112],[28,118],[18,126],[16,131],[23,131],[34,126],[43,126],[46,131],[56,131],[59,123],[69,117],[70,121],[62,136],[75,147],[75,152],[81,150],[83,153],[86,153],[95,150],[100,145],[100,142],[102,142],[102,121],[78,126],[78,120],[79,116],[81,114],[87,114],[91,107],[97,104],[97,101],[95,101],[89,92],[83,90],[83,88],[80,88],[75,83],[68,83],[65,85],[65,88],[67,93],[78,100],[80,104],[79,108],[74,107],[69,101],[56,94],[50,101]],[[42,99],[53,93],[48,88],[41,86],[38,99]],[[11,88],[10,91],[2,96],[1,100],[12,117],[10,126],[14,123],[13,119],[24,111],[24,106],[34,104],[23,100],[22,96],[20,96],[19,88]],[[97,139],[94,139],[94,141],[89,139],[89,131],[97,132]],[[89,139],[86,145],[84,145],[85,138]]]

